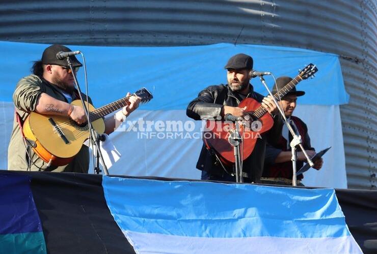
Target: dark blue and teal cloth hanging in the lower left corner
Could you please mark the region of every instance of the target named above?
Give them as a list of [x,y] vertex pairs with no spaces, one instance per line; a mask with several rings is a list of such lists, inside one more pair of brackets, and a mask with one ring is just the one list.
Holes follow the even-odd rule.
[[46,253],[30,182],[31,177],[27,175],[0,173],[2,253]]

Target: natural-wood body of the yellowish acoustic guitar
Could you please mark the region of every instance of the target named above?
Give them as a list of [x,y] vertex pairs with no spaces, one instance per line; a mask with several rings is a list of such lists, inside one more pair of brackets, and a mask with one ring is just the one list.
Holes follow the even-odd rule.
[[[71,104],[82,107],[79,100],[75,100]],[[88,109],[89,112],[95,110],[91,104],[89,104]],[[56,123],[56,125],[51,122]],[[104,133],[105,123],[103,118],[94,120],[92,125],[99,134]],[[56,126],[66,139],[59,135]],[[87,123],[78,125],[66,116],[42,115],[31,112],[23,123],[23,134],[27,139],[35,142],[35,147],[32,148],[43,161],[52,166],[63,166],[73,160],[84,141],[89,138],[89,129]]]

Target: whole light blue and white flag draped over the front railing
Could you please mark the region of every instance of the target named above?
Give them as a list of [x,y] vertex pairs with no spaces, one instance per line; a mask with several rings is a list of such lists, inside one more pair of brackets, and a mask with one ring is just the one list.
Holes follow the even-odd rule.
[[362,253],[334,189],[103,176],[137,253]]

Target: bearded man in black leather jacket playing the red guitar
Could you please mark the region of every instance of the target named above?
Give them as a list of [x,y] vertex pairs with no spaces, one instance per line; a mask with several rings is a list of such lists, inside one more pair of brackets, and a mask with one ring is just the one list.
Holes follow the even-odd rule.
[[[243,176],[245,182],[259,182],[264,162],[266,140],[274,143],[280,136],[281,121],[277,108],[270,97],[264,97],[255,92],[250,84],[253,58],[246,54],[232,56],[225,66],[228,84],[213,85],[199,92],[198,97],[187,106],[187,116],[195,119],[224,119],[232,114],[244,117],[246,108],[237,107],[245,98],[252,98],[262,104],[270,114],[274,114],[273,128],[258,138],[253,152],[243,161]],[[276,124],[279,123],[280,125]],[[235,181],[234,166],[227,167],[219,162],[214,151],[204,144],[199,155],[197,169],[202,170],[202,179]]]

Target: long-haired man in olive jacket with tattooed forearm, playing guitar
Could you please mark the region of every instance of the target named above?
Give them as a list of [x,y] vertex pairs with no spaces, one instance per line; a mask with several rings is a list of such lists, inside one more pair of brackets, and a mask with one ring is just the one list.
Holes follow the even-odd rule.
[[[68,52],[71,50],[63,45],[47,47],[43,51],[41,60],[34,62],[33,74],[22,78],[16,85],[13,93],[15,117],[8,147],[9,170],[88,172],[89,150],[87,146],[83,145],[68,165],[48,166],[25,144],[21,131],[23,121],[32,111],[45,115],[70,117],[78,124],[86,122],[84,109],[70,104],[73,100],[79,99],[79,94],[74,87],[73,75],[66,59],[57,58],[57,53],[60,51]],[[75,56],[71,56],[70,59],[74,71],[77,72],[82,64]],[[86,100],[85,94],[82,93],[82,96]],[[90,98],[89,102],[92,103]],[[105,118],[106,134],[115,130],[117,120],[122,121],[124,116],[138,107],[140,98],[131,97],[129,102],[130,105],[117,112],[115,117]]]

